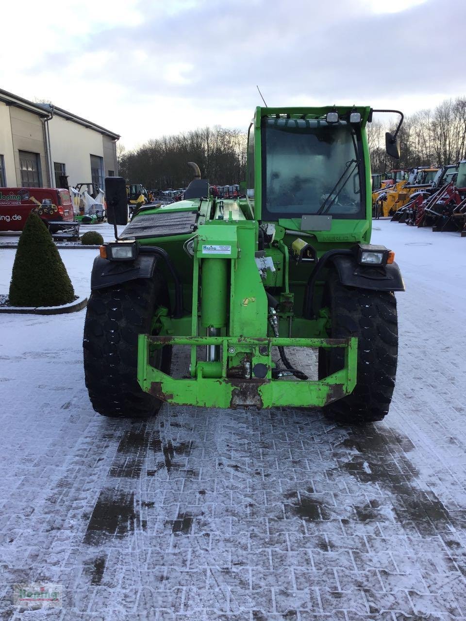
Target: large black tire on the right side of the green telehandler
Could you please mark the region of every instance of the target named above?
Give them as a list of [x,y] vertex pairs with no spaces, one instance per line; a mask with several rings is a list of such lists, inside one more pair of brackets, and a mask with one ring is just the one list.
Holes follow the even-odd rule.
[[[354,391],[324,407],[345,424],[365,424],[388,414],[395,387],[398,317],[393,292],[345,287],[333,273],[324,292],[331,311],[331,338],[357,337],[358,368]],[[343,368],[342,350],[319,350],[319,379]]]

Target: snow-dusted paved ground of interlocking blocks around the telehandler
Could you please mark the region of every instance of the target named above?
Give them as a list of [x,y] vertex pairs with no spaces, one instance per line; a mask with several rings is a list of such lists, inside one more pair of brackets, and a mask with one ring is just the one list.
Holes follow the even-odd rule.
[[[466,619],[466,240],[375,227],[408,291],[395,399],[368,428],[319,410],[106,420],[84,312],[2,316],[0,619]],[[93,252],[62,256],[85,291]],[[62,609],[9,604],[40,581]]]

